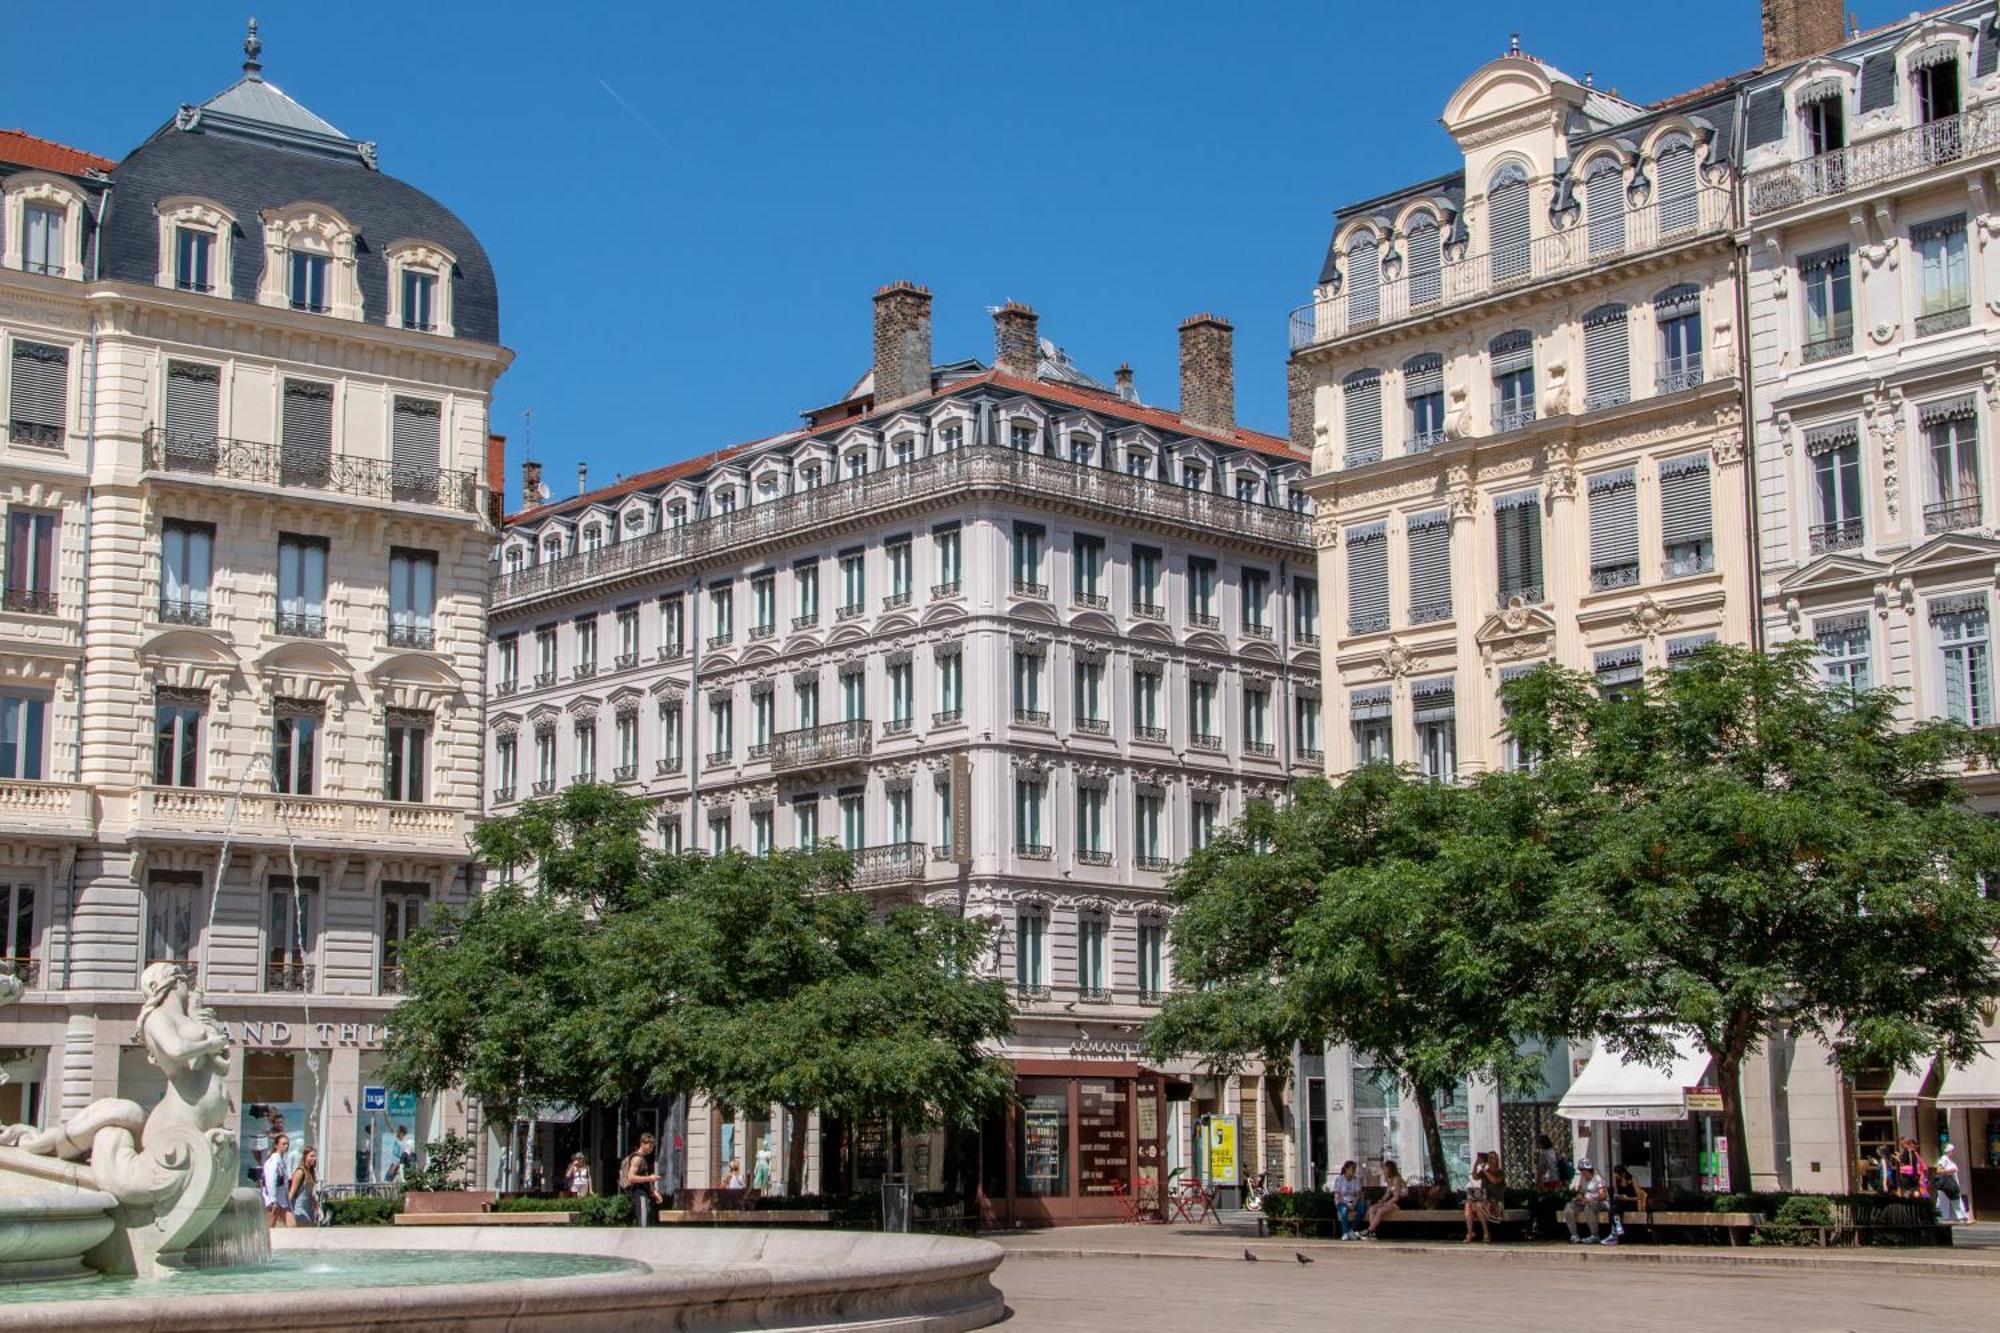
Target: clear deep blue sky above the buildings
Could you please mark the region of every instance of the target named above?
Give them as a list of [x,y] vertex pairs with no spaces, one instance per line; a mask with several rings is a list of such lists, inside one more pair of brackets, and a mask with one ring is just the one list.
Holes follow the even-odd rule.
[[[82,10],[78,10],[80,14]],[[122,156],[238,74],[246,4],[90,6],[16,38],[0,124]],[[1672,18],[1668,20],[1668,12]],[[1884,22],[1898,10],[1862,8]],[[332,22],[324,16],[334,14]],[[1238,418],[1284,430],[1284,318],[1330,210],[1446,170],[1438,112],[1522,46],[1654,100],[1756,64],[1754,0],[486,4],[258,8],[266,78],[454,208],[492,252],[556,494],[782,430],[870,358],[870,294],[986,306],[1148,402],[1176,324],[1236,324]],[[32,56],[26,42],[32,42]]]

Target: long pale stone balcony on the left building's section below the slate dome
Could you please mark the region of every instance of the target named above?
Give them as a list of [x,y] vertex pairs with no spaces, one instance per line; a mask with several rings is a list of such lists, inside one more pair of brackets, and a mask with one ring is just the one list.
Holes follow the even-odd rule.
[[198,787],[140,787],[132,799],[132,833],[138,839],[154,841],[236,837],[260,845],[296,841],[320,847],[352,845],[386,855],[462,857],[468,829],[464,811],[448,805],[276,793],[242,793],[238,797]]

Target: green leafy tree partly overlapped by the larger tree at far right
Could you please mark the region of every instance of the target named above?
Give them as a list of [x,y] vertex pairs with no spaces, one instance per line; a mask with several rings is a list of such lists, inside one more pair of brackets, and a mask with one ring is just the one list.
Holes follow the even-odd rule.
[[1390,765],[1252,805],[1174,877],[1186,989],[1150,1049],[1284,1067],[1294,1043],[1346,1043],[1410,1089],[1442,1175],[1440,1095],[1472,1075],[1520,1085],[1524,1039],[1550,1021],[1538,819],[1518,779],[1448,787]]

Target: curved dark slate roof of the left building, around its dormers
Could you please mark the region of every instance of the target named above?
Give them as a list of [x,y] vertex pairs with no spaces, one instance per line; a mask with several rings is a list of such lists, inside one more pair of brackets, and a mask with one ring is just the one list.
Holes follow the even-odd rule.
[[174,194],[198,194],[236,214],[230,248],[236,300],[256,302],[264,210],[314,200],[336,208],[360,232],[354,262],[368,324],[388,318],[384,248],[430,240],[458,258],[450,278],[454,336],[500,342],[500,292],[472,230],[416,186],[376,170],[372,144],[348,138],[254,74],[200,106],[182,108],[112,170],[112,204],[100,238],[104,276],[156,280],[156,204]]

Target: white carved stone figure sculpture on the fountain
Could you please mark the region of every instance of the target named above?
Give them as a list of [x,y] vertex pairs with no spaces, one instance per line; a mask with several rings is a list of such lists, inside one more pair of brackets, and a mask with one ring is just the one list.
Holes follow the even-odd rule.
[[[134,1039],[166,1075],[150,1113],[94,1101],[54,1129],[0,1129],[0,1281],[180,1267],[230,1203],[228,1033],[172,963],[140,977]],[[0,975],[0,1005],[22,983]]]

